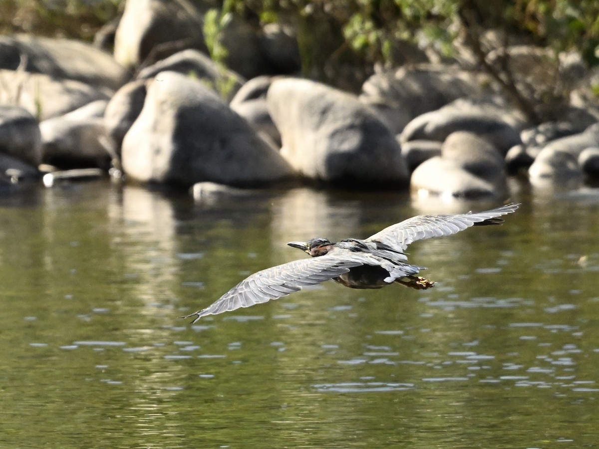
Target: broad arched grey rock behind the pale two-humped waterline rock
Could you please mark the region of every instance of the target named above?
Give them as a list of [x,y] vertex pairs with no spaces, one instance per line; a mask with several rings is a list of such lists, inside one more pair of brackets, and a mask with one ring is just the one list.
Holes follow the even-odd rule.
[[510,123],[507,114],[490,104],[475,105],[456,101],[437,111],[422,114],[408,123],[401,133],[402,144],[416,139],[444,141],[456,131],[467,131],[486,139],[506,154],[521,143],[516,123]]

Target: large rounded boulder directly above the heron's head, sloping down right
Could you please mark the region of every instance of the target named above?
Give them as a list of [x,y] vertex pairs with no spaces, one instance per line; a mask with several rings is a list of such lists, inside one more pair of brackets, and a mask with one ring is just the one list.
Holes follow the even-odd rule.
[[282,78],[268,89],[267,106],[281,134],[281,154],[305,177],[362,189],[407,184],[395,136],[355,96]]

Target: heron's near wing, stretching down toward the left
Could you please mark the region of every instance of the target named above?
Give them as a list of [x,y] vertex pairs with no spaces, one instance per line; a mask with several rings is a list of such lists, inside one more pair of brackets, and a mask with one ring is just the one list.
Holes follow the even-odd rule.
[[216,315],[281,298],[301,290],[301,287],[319,284],[347,273],[353,266],[364,265],[365,260],[360,259],[354,257],[344,260],[341,257],[325,255],[273,266],[252,274],[212,305],[183,318],[195,317],[193,324],[205,315]]

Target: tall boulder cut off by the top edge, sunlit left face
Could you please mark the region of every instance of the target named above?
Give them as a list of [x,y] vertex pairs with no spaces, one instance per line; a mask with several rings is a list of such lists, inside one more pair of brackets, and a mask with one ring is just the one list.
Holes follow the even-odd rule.
[[187,0],[127,0],[114,36],[114,58],[126,68],[183,48],[207,51],[204,20]]

